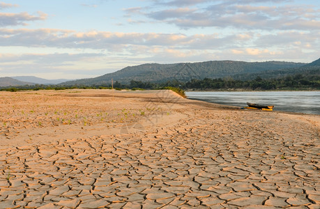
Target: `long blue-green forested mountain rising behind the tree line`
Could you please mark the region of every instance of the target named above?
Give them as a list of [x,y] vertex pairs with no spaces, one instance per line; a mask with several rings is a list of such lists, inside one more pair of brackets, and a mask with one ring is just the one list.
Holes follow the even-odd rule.
[[201,63],[158,64],[148,63],[129,66],[100,77],[79,79],[64,82],[66,86],[99,86],[111,84],[112,79],[121,84],[130,84],[131,80],[142,82],[161,83],[170,80],[188,82],[191,79],[223,78],[236,75],[260,73],[267,70],[284,68],[299,68],[306,63],[291,63],[280,61],[244,62],[244,61],[206,61]]

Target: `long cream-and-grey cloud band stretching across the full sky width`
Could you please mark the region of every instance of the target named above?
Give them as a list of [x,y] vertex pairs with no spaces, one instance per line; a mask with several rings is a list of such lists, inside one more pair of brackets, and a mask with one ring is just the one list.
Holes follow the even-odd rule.
[[[61,49],[100,49],[106,53],[132,54],[139,47],[142,52],[158,49],[227,49],[235,47],[286,49],[301,43],[317,49],[320,31],[280,31],[271,33],[239,32],[222,36],[183,33],[112,33],[107,31],[77,32],[59,29],[0,29],[0,46],[57,47]],[[140,51],[139,51],[140,53]]]

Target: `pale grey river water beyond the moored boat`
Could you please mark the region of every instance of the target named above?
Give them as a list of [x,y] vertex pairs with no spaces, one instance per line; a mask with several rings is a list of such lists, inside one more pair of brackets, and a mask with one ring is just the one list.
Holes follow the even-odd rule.
[[320,115],[320,91],[187,91],[191,100],[246,107],[247,102],[274,105],[275,111]]

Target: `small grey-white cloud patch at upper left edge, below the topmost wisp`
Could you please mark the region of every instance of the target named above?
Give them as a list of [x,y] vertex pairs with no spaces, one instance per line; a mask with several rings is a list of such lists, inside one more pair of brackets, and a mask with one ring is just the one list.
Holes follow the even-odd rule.
[[0,13],[0,26],[27,25],[26,22],[35,20],[45,20],[47,14],[38,12],[38,16],[29,13]]

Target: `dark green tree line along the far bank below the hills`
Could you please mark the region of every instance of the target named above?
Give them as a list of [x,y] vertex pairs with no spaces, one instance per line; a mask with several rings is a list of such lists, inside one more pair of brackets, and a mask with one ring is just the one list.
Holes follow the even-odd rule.
[[[248,91],[259,91],[259,90],[320,90],[320,75],[289,75],[281,78],[262,79],[257,76],[255,79],[243,81],[226,77],[224,79],[192,79],[190,82],[179,82],[176,79],[163,83],[151,83],[141,82],[132,80],[130,84],[121,84],[120,82],[114,82],[114,88],[120,89],[163,89],[168,86],[174,88],[195,89],[195,90],[248,90]],[[45,85],[36,84],[34,86],[15,86],[15,87],[2,87],[1,91],[21,91],[21,90],[41,90],[41,89],[54,89],[63,90],[70,88],[112,88],[111,84],[105,85],[75,85],[75,86],[60,86],[57,85]]]

